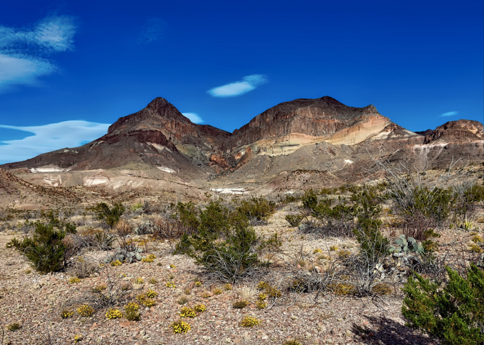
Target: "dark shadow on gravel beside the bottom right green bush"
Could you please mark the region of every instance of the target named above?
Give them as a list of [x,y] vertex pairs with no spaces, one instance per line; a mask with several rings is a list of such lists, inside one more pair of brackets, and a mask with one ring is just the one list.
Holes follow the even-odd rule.
[[369,324],[353,324],[355,339],[368,345],[439,345],[424,335],[386,317],[365,316]]

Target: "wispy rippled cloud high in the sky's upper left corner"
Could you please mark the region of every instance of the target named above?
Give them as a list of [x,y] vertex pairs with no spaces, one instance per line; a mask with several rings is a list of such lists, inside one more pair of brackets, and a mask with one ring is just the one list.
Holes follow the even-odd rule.
[[0,26],[0,92],[13,85],[35,85],[58,71],[48,59],[74,48],[76,25],[70,16],[49,16],[25,29]]

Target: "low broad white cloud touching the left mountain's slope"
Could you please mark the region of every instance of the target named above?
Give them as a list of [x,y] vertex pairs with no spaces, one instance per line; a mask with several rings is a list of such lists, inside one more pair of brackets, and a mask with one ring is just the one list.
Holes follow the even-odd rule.
[[0,164],[17,162],[63,148],[78,147],[107,133],[108,123],[82,120],[62,121],[41,126],[7,126],[2,128],[30,132],[23,139],[0,141]]

